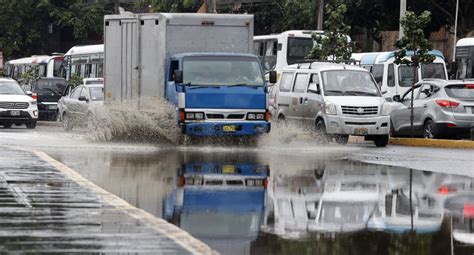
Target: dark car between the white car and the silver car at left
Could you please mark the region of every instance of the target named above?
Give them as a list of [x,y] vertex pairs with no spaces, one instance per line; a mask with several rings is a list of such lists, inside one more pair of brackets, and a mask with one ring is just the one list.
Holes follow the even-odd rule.
[[65,89],[63,78],[42,77],[31,84],[30,91],[37,96],[40,120],[57,119],[58,101]]

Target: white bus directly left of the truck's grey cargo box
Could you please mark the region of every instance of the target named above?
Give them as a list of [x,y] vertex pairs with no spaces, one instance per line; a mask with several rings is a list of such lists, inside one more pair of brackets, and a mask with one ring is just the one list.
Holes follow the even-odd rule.
[[104,77],[104,45],[74,46],[65,55],[66,80],[72,75],[81,78]]

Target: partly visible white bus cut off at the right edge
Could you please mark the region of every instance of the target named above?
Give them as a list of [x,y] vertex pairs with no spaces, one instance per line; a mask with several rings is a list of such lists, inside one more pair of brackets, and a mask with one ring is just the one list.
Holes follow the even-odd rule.
[[456,43],[456,79],[474,78],[474,37]]

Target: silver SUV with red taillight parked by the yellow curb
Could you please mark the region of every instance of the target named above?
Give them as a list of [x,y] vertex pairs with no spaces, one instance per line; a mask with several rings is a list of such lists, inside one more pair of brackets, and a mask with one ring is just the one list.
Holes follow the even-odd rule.
[[472,81],[427,79],[403,96],[393,97],[390,116],[392,136],[411,134],[411,93],[414,91],[415,136],[425,138],[469,137],[474,129],[474,83]]

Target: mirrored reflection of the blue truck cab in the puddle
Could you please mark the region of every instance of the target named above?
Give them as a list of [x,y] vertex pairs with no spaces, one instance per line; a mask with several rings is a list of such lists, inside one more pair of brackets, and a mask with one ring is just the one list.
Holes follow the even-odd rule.
[[165,198],[163,218],[218,251],[249,250],[263,221],[269,174],[260,164],[187,163]]

